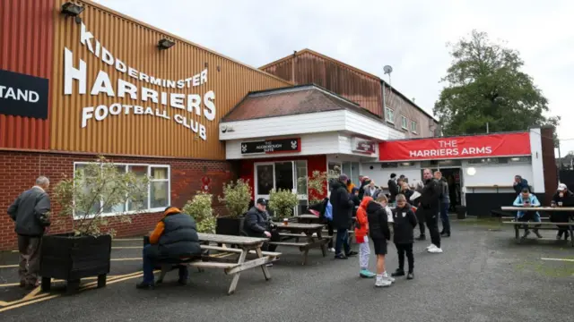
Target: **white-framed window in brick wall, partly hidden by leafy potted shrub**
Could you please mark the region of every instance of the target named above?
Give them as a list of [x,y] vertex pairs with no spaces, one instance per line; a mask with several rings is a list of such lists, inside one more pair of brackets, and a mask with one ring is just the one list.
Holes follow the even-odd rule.
[[[75,163],[75,171],[83,171],[87,163]],[[103,209],[102,216],[113,216],[117,213],[135,212],[135,211],[160,211],[170,205],[170,166],[169,165],[129,165],[116,164],[117,171],[134,173],[138,177],[148,176],[150,184],[148,185],[147,196],[143,199],[128,199],[126,203],[108,206]],[[85,174],[89,180],[90,174]],[[89,186],[85,188],[89,190]],[[103,200],[96,200],[91,211],[97,212],[103,204]]]

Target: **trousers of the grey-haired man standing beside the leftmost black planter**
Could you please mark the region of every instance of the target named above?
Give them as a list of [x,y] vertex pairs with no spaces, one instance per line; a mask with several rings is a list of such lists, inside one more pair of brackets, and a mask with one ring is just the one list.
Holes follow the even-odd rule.
[[18,275],[21,282],[36,284],[38,281],[41,242],[41,237],[18,235],[18,251],[20,252]]

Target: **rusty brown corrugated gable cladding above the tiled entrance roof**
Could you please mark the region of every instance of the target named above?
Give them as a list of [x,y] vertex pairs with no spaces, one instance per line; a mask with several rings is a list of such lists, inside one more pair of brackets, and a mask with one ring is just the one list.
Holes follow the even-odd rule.
[[315,83],[356,102],[373,114],[382,115],[383,103],[378,77],[326,55],[303,49],[295,55],[266,64],[261,70],[296,84]]

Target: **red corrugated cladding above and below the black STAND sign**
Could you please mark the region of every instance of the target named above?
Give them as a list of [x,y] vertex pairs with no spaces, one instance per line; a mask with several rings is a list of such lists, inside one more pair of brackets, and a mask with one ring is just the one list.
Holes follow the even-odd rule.
[[[53,4],[53,0],[0,1],[1,70],[50,78]],[[48,149],[48,125],[48,120],[0,114],[0,148]]]

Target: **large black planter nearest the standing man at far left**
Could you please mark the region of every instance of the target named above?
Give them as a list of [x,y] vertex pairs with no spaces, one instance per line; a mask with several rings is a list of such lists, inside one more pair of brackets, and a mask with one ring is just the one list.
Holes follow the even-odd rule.
[[39,275],[42,291],[50,290],[50,278],[67,281],[66,291],[77,292],[80,280],[98,276],[98,287],[106,286],[109,274],[111,236],[53,234],[42,238]]

